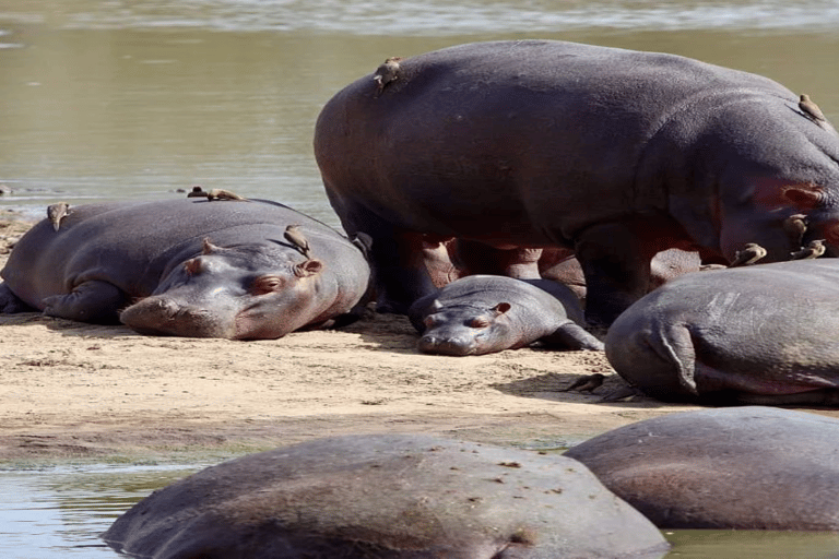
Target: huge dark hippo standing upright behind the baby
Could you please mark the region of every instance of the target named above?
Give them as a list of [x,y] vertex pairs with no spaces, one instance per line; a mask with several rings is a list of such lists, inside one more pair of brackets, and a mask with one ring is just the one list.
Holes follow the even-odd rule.
[[393,312],[433,292],[424,234],[574,249],[604,325],[669,248],[787,260],[801,214],[799,240],[839,249],[836,130],[767,78],[672,55],[516,40],[407,58],[380,96],[367,75],[326,105],[315,154],[346,231],[373,237]]

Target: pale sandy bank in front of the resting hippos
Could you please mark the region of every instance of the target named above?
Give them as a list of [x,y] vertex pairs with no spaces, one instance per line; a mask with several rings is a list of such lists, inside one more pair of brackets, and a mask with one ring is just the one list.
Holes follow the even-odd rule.
[[[0,221],[0,265],[28,226]],[[623,383],[600,352],[445,357],[416,340],[404,317],[373,312],[256,342],[0,314],[0,465],[182,461],[383,431],[559,449],[694,408],[600,403]],[[607,376],[593,393],[560,392],[593,372]]]

